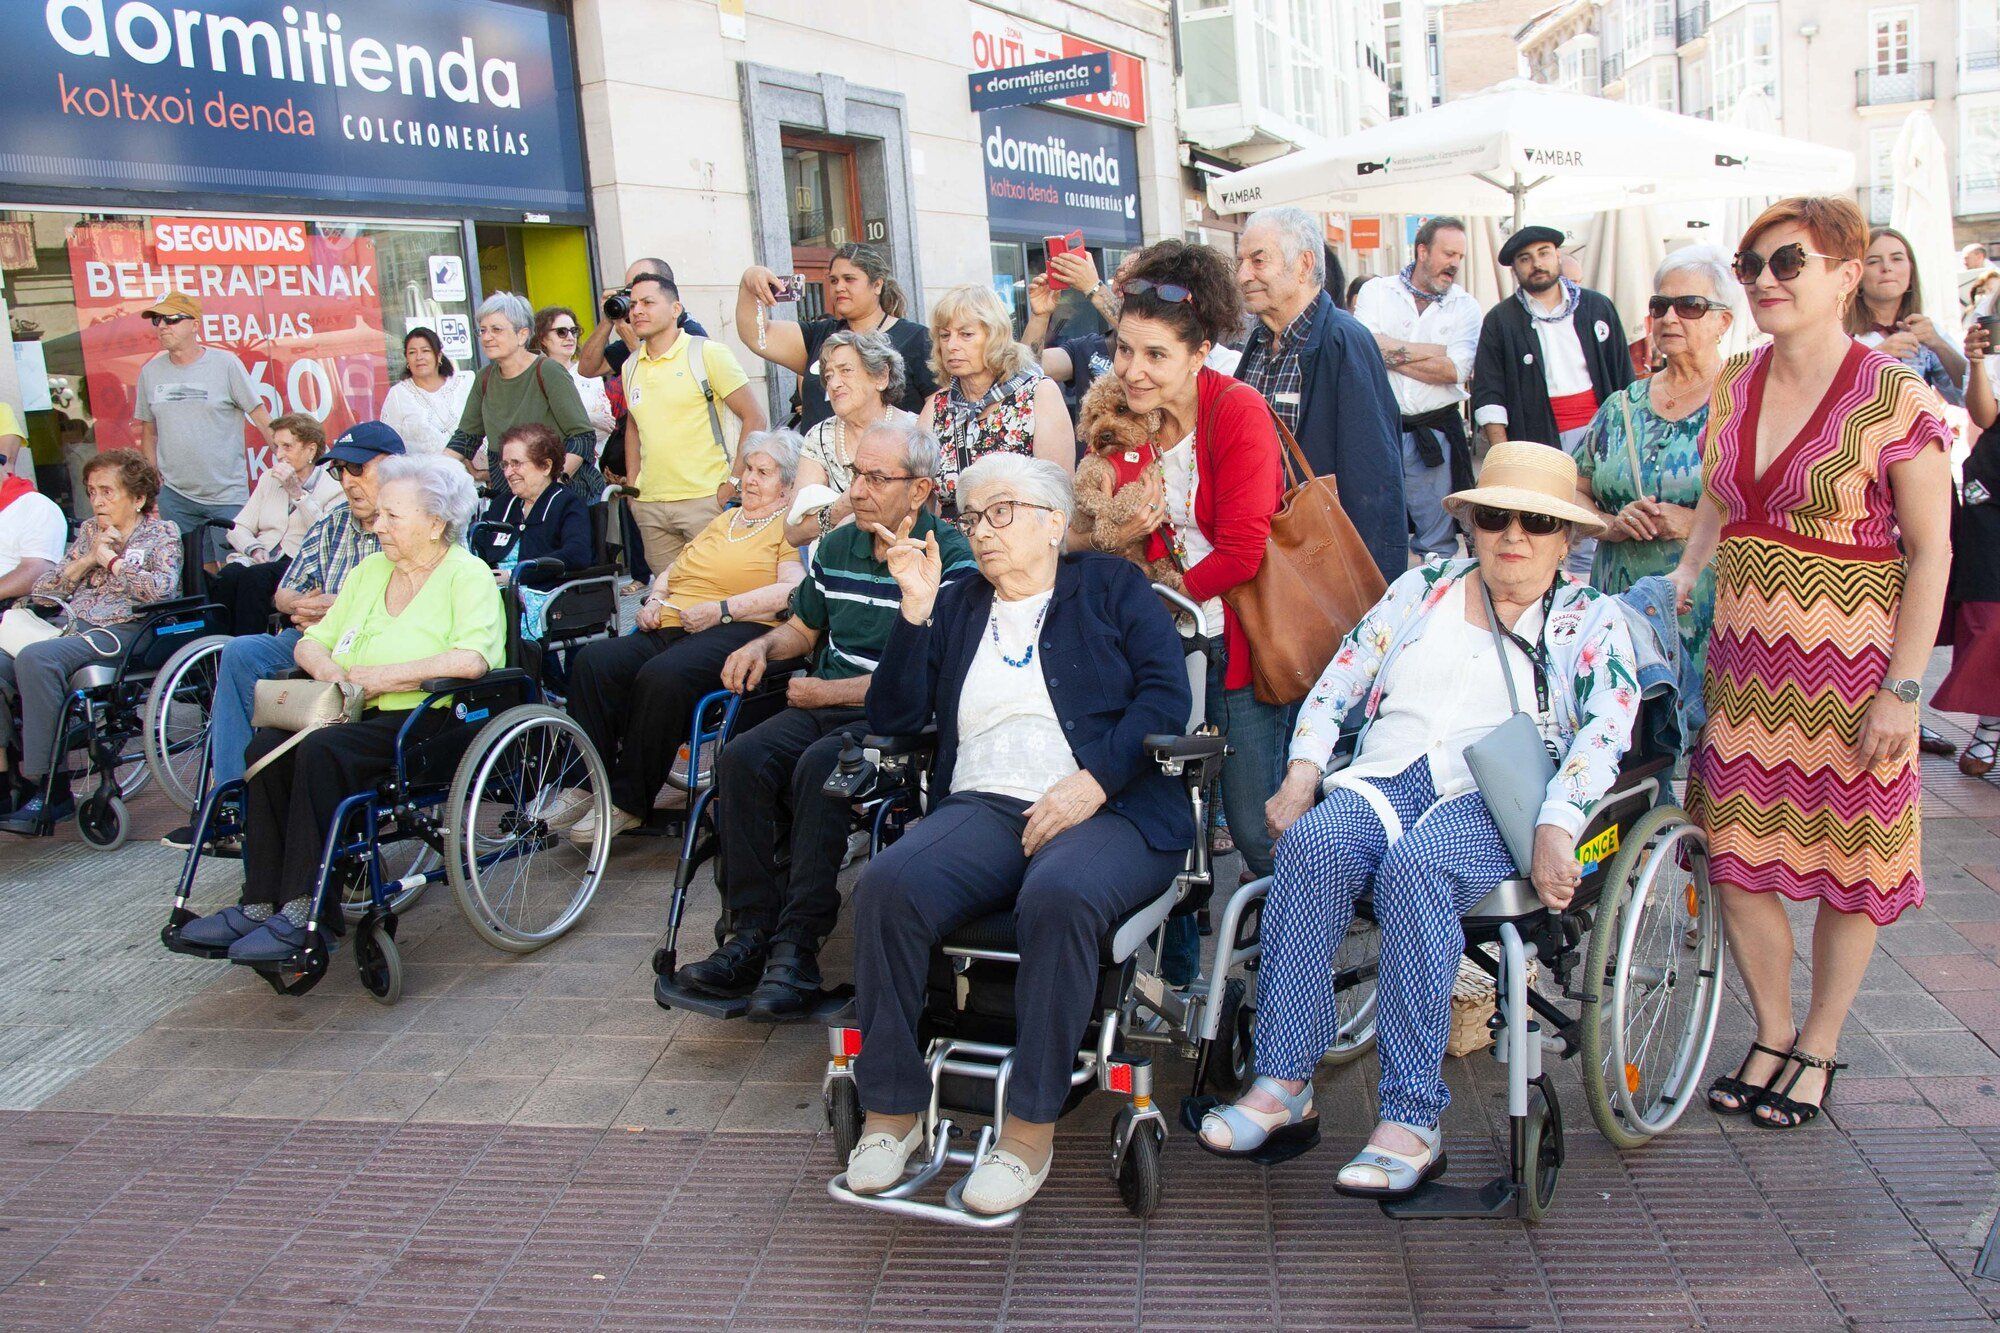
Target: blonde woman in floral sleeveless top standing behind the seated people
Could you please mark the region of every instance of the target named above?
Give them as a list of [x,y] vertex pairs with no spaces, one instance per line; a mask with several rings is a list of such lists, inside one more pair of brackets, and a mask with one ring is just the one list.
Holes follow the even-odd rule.
[[958,512],[958,474],[988,454],[1028,454],[1076,470],[1076,426],[1062,386],[1014,340],[990,286],[954,286],[930,308],[930,368],[940,388],[920,422],[938,436],[938,504]]

